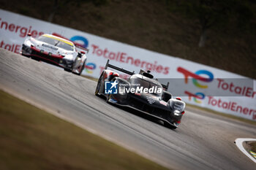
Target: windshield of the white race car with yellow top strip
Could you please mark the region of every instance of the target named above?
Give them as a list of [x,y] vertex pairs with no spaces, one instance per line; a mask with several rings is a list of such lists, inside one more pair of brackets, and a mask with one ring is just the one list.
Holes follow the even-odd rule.
[[54,45],[56,47],[61,47],[64,50],[73,50],[73,46],[72,45],[69,45],[69,44],[67,44],[65,42],[61,42],[58,39],[50,38],[48,36],[39,36],[39,38],[37,40],[40,41],[40,42],[46,42],[49,45]]

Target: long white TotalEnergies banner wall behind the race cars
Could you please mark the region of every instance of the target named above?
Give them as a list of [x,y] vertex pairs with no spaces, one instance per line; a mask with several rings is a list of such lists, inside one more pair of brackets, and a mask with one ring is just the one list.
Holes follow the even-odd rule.
[[256,80],[0,9],[0,47],[19,53],[28,33],[34,38],[60,34],[89,48],[83,71],[88,76],[98,78],[110,59],[131,72],[151,70],[189,104],[256,121]]

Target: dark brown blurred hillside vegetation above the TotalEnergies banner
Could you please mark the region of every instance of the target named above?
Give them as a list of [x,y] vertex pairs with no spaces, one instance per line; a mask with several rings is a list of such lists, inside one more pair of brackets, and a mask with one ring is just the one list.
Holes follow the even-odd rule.
[[256,78],[255,0],[0,0],[0,7]]

